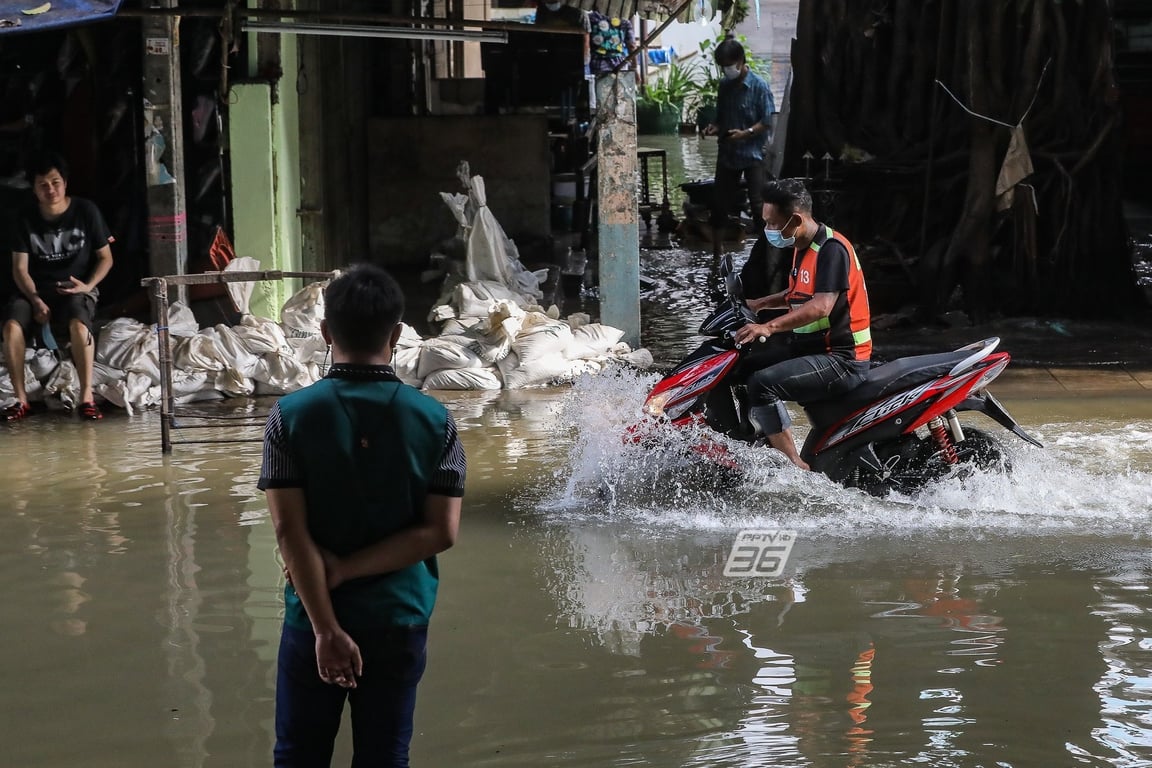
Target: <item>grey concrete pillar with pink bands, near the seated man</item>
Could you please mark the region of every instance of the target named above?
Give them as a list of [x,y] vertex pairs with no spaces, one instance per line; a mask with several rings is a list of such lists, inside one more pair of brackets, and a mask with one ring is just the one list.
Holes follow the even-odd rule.
[[[157,6],[175,8],[176,0],[158,0]],[[142,22],[149,271],[157,276],[184,274],[188,264],[179,24],[176,16]],[[180,299],[185,294],[183,286],[177,288]]]

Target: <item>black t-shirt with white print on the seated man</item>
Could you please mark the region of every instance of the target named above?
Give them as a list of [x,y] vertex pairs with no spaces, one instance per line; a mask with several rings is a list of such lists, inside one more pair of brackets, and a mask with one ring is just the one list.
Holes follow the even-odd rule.
[[28,274],[36,290],[51,292],[69,277],[88,280],[92,254],[112,242],[108,225],[90,200],[74,197],[60,216],[47,221],[30,205],[16,221],[12,249],[28,253]]

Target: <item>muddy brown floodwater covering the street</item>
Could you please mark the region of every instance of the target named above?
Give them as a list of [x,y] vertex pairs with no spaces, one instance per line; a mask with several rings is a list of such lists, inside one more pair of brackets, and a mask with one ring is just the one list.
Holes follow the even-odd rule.
[[[645,259],[667,363],[710,275]],[[1017,390],[1045,449],[877,500],[764,453],[717,488],[626,449],[653,379],[442,393],[470,472],[414,765],[1152,763],[1152,398]],[[270,404],[204,406],[255,417],[209,434],[258,439]],[[154,413],[0,429],[0,765],[271,765],[259,444],[159,439]],[[723,576],[743,529],[796,531],[781,577]]]

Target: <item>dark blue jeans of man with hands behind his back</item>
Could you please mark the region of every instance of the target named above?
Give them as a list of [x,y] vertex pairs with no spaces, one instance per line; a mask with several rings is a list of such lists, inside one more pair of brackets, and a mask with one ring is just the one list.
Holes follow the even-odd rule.
[[408,766],[427,628],[350,634],[359,646],[364,675],[347,690],[320,679],[310,630],[283,628],[276,661],[276,768],[331,765],[346,700],[353,716],[353,768]]

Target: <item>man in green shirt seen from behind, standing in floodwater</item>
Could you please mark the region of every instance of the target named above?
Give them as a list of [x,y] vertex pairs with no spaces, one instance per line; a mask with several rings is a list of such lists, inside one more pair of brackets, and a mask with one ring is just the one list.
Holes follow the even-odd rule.
[[354,766],[408,766],[439,573],[464,493],[456,426],[392,368],[403,296],[356,266],[325,291],[332,368],[281,398],[259,487],[288,572],[278,767],[327,766],[351,706]]

